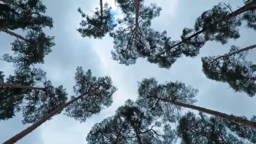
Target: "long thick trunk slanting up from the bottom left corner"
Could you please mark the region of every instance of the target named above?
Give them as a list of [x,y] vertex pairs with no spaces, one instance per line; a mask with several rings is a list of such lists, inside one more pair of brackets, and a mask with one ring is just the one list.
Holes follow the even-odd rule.
[[26,136],[27,134],[31,133],[37,127],[42,125],[46,120],[48,120],[49,118],[51,118],[54,115],[56,115],[57,113],[59,113],[65,107],[69,106],[69,104],[72,104],[73,102],[77,101],[78,99],[81,99],[84,95],[85,95],[85,93],[80,95],[80,96],[78,96],[78,97],[76,97],[75,99],[72,99],[72,100],[68,101],[67,103],[63,104],[62,106],[56,108],[55,110],[50,112],[48,115],[45,115],[44,117],[40,118],[40,120],[35,122],[33,125],[29,126],[25,130],[23,130],[20,133],[16,134],[11,139],[8,139],[7,141],[5,141],[3,144],[13,144],[13,143],[16,143],[17,141],[22,139],[24,136]]

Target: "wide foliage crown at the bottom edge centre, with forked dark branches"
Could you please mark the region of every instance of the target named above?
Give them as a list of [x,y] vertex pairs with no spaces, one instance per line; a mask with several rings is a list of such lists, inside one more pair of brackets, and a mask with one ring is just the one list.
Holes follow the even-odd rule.
[[170,125],[161,126],[162,123],[127,100],[114,116],[96,123],[86,140],[88,144],[172,144],[175,132]]

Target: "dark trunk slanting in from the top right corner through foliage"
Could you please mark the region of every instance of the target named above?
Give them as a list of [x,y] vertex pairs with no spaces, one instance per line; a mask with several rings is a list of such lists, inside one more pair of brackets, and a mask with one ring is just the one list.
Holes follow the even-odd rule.
[[[229,15],[227,15],[227,16],[221,18],[219,21],[216,21],[214,24],[219,24],[219,23],[221,23],[221,22],[223,22],[223,21],[227,21],[227,20],[229,20],[230,18],[235,17],[235,16],[237,16],[237,15],[239,15],[239,14],[241,14],[241,13],[244,13],[245,11],[249,11],[249,10],[251,10],[251,9],[253,9],[253,8],[256,8],[256,3],[253,3],[253,2],[252,2],[252,3],[249,3],[248,5],[244,5],[243,7],[237,9],[236,11],[234,11],[234,12],[232,12],[232,13],[229,13]],[[209,28],[210,28],[210,27],[206,27],[205,29],[202,29],[202,30],[196,32],[195,34],[193,34],[193,35],[191,35],[191,36],[185,38],[185,39],[182,40],[181,42],[176,43],[175,45],[169,47],[166,51],[164,51],[164,52],[162,52],[162,53],[160,53],[160,54],[157,54],[157,55],[162,55],[162,54],[164,54],[164,53],[170,51],[172,48],[176,47],[177,45],[180,45],[180,44],[186,42],[187,40],[190,40],[192,37],[195,37],[195,36],[197,36],[197,35],[200,35],[201,33],[205,32],[205,31],[208,30]]]

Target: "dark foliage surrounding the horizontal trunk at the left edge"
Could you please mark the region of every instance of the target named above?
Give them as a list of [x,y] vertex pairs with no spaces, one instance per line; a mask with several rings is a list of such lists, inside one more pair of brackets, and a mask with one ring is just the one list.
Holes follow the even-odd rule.
[[41,69],[16,69],[15,75],[10,75],[5,83],[32,87],[39,82],[43,83],[44,90],[1,87],[0,119],[12,118],[22,111],[24,124],[35,123],[67,101],[65,89],[62,86],[54,88]]

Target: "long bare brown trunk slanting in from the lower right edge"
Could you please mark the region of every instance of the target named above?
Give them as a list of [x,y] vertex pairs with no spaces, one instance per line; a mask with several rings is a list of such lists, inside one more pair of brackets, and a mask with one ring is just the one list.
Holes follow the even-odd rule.
[[156,98],[156,99],[160,99],[161,101],[165,101],[165,102],[175,104],[175,105],[178,105],[178,106],[181,106],[181,107],[187,107],[187,108],[190,108],[190,109],[198,110],[200,112],[205,112],[209,115],[214,115],[216,117],[223,118],[224,120],[228,120],[230,122],[237,123],[239,125],[243,125],[245,127],[253,128],[253,129],[256,130],[256,122],[253,122],[253,121],[245,120],[243,118],[236,117],[236,116],[233,116],[233,115],[227,115],[225,113],[217,112],[217,111],[214,111],[214,110],[211,110],[211,109],[205,109],[203,107],[197,107],[197,106],[194,106],[194,105],[191,105],[191,104],[183,104],[183,103],[172,101],[172,100],[169,100],[169,99],[161,99],[161,98]]

